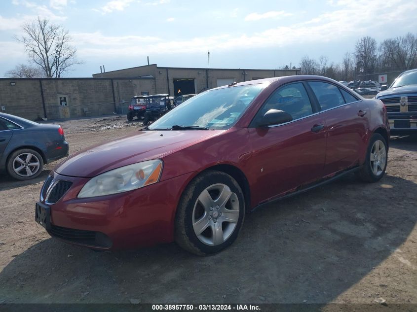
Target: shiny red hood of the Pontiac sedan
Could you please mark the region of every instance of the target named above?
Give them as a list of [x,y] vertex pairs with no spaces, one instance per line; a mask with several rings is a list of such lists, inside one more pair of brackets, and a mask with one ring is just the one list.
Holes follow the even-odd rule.
[[55,172],[76,177],[93,177],[112,169],[162,156],[223,131],[139,131],[133,135],[85,148],[64,160]]

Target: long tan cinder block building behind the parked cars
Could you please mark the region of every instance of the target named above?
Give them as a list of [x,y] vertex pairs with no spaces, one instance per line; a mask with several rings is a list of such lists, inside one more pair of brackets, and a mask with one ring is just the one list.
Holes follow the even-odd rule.
[[204,69],[156,64],[92,78],[0,78],[0,111],[30,120],[126,113],[135,95],[200,93],[230,84],[299,74],[299,69]]

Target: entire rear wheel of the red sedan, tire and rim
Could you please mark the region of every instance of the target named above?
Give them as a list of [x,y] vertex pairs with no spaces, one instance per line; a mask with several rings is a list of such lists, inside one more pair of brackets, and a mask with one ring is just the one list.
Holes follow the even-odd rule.
[[385,173],[388,147],[385,139],[375,133],[369,140],[365,163],[356,176],[365,182],[377,182]]

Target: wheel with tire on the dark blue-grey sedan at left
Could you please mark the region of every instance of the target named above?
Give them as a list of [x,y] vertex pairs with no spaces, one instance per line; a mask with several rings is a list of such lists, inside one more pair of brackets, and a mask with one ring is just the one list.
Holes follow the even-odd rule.
[[29,180],[42,173],[43,159],[33,149],[18,149],[8,157],[6,168],[7,173],[15,179]]

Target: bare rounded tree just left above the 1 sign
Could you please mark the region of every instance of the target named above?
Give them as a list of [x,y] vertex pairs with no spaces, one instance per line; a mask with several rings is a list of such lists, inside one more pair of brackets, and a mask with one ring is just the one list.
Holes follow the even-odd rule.
[[364,36],[356,41],[355,47],[356,64],[365,74],[371,73],[377,61],[377,41]]

